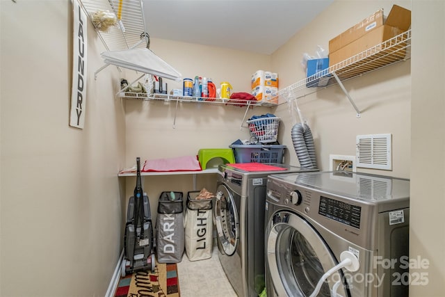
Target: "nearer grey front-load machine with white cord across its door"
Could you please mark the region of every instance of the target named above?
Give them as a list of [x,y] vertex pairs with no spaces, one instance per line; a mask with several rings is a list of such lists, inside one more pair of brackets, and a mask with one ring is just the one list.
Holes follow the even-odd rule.
[[[343,171],[270,175],[267,296],[408,296],[409,198],[408,179]],[[355,269],[341,267],[342,253],[353,255]]]

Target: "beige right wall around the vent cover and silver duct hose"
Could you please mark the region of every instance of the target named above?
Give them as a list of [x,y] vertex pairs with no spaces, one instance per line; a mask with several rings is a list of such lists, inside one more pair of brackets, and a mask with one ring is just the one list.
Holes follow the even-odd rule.
[[[410,9],[410,1],[396,2]],[[389,1],[336,1],[314,21],[298,32],[273,54],[274,71],[282,77],[282,87],[305,78],[300,61],[305,52],[315,55],[317,45],[328,50],[328,41],[339,32],[348,29],[371,13],[383,8],[385,15],[391,10]],[[330,154],[355,156],[357,135],[392,134],[393,170],[365,170],[381,175],[410,177],[410,63],[398,63],[392,67],[366,74],[365,77],[346,81],[344,86],[353,98],[357,113],[339,86],[332,86],[312,95],[307,91],[293,93],[302,117],[307,120],[314,135],[318,167],[329,170]],[[291,163],[298,163],[291,127],[300,122],[298,114],[289,113],[288,104],[277,109],[284,119],[282,143],[287,145]]]

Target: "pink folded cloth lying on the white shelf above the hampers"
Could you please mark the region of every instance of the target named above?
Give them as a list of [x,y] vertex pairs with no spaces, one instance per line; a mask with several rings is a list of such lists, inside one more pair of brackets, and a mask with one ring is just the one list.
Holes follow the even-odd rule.
[[147,160],[141,171],[200,171],[197,156],[178,156],[176,158]]

